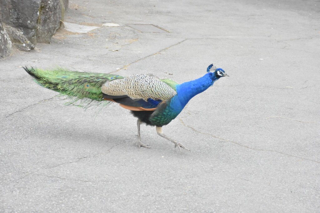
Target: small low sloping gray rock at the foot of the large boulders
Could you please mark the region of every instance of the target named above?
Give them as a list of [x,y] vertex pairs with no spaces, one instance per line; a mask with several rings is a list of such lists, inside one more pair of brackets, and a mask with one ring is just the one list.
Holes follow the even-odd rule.
[[23,35],[23,32],[19,29],[16,29],[11,26],[6,26],[5,30],[7,31],[11,42],[18,49],[22,51],[30,51],[31,49],[35,49],[35,45],[31,43],[26,36]]

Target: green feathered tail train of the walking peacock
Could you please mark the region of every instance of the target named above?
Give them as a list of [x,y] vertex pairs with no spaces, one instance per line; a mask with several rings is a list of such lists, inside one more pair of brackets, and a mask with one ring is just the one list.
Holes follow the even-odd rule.
[[102,101],[101,86],[106,81],[124,78],[113,74],[77,72],[62,68],[57,68],[56,70],[42,70],[33,67],[23,68],[35,78],[39,85],[59,92],[61,95],[75,97],[74,101],[85,98]]

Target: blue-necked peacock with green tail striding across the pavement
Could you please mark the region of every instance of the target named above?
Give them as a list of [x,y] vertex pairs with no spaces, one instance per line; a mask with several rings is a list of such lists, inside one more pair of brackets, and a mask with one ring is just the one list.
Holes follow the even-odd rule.
[[[213,64],[207,73],[196,80],[179,84],[175,80],[156,75],[134,74],[127,77],[116,74],[70,71],[63,68],[43,70],[23,67],[39,85],[73,98],[70,103],[81,101],[82,106],[119,103],[138,118],[138,147],[150,148],[140,140],[140,125],[156,126],[161,137],[178,147],[190,151],[183,144],[172,140],[162,131],[162,126],[176,118],[188,101],[203,92],[221,77],[228,76]],[[85,104],[84,104],[85,103]]]

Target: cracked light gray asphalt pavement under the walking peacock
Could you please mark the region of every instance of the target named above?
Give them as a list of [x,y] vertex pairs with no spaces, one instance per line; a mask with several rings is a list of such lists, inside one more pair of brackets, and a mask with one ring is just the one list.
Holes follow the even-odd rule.
[[[319,1],[73,0],[65,21],[100,28],[60,30],[0,61],[0,212],[320,212],[319,11]],[[231,77],[163,128],[191,152],[144,125],[151,148],[137,148],[128,110],[65,106],[21,68],[182,83],[211,63]]]

